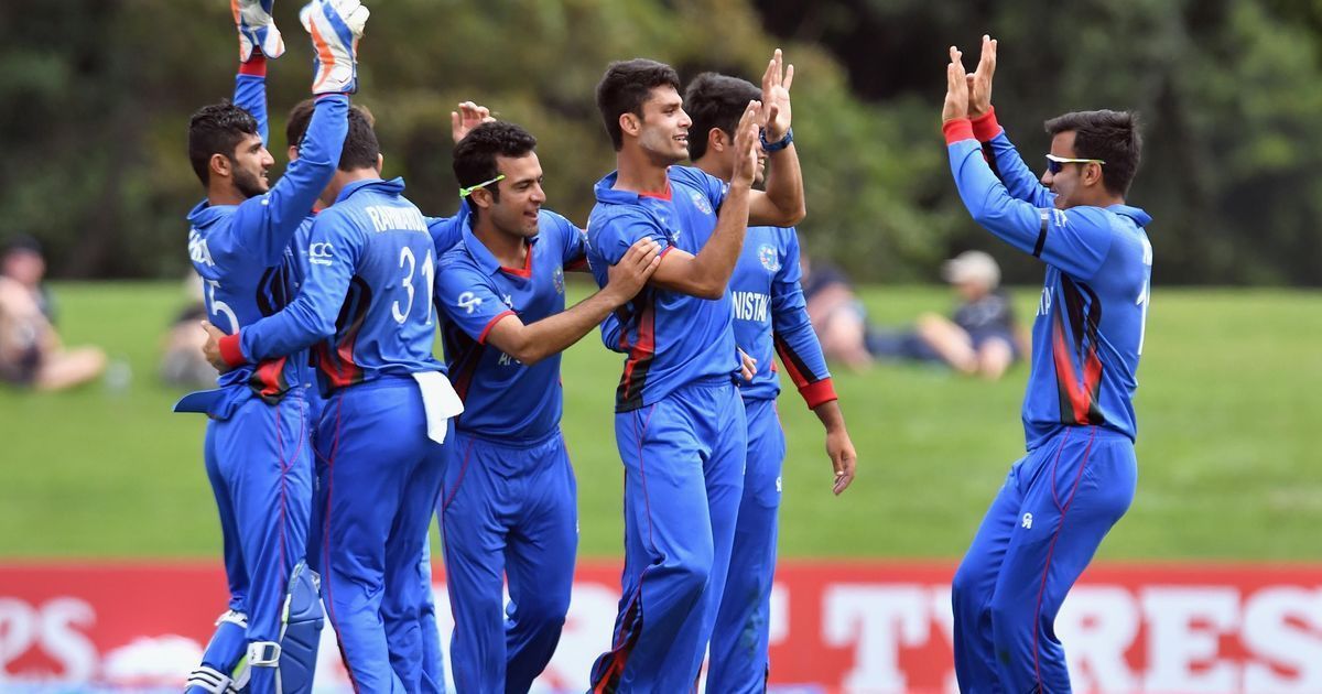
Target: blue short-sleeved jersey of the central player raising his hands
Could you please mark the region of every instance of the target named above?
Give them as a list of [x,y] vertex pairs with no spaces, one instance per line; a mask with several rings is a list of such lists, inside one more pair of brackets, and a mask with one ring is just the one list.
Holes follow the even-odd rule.
[[[702,250],[726,196],[719,178],[670,167],[669,190],[639,194],[615,190],[616,177],[598,181],[588,217],[588,262],[598,286],[605,287],[607,268],[639,239],[652,238],[662,254],[672,247],[693,255]],[[699,299],[648,286],[616,317],[623,328],[619,349],[628,354],[616,389],[617,412],[653,405],[683,385],[739,371],[728,291],[720,299]]]

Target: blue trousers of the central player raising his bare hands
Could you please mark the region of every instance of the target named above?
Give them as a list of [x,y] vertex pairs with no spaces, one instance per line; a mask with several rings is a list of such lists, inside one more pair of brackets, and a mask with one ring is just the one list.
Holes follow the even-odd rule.
[[615,415],[624,461],[624,574],[592,691],[694,687],[730,567],[748,430],[728,379]]

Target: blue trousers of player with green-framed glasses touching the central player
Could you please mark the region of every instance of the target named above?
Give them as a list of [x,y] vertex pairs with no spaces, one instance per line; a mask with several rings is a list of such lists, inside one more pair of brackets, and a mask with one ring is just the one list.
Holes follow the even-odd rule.
[[564,438],[555,430],[524,444],[497,443],[456,431],[447,448],[438,514],[455,615],[455,687],[525,693],[555,653],[574,586],[578,485]]

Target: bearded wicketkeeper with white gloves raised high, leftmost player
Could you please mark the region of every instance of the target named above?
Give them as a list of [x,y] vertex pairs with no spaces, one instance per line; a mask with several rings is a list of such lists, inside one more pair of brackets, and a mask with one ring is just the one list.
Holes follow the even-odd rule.
[[[266,149],[266,58],[284,50],[271,1],[237,1],[241,69],[235,102],[213,104],[189,123],[189,159],[206,200],[189,213],[189,256],[202,278],[208,316],[237,332],[279,311],[288,297],[290,242],[334,172],[346,131],[357,37],[368,11],[357,0],[319,1],[309,11],[317,96],[304,156],[275,185]],[[311,506],[307,445],[307,357],[255,362],[219,378],[219,389],[184,398],[176,410],[205,411],[205,459],[225,538],[230,609],[192,691],[308,691],[321,617],[316,584],[299,566]],[[245,665],[245,668],[241,668]]]

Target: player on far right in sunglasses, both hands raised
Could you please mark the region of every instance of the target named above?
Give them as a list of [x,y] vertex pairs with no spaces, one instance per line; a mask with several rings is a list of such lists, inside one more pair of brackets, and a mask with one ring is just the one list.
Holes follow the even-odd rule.
[[954,575],[964,691],[1069,691],[1054,621],[1134,497],[1133,394],[1150,296],[1151,218],[1125,204],[1138,168],[1134,116],[1066,114],[1040,181],[992,110],[995,42],[965,75],[951,48],[941,112],[951,169],[973,218],[1047,276],[1023,401],[1027,455],[1010,468]]

